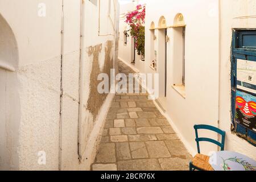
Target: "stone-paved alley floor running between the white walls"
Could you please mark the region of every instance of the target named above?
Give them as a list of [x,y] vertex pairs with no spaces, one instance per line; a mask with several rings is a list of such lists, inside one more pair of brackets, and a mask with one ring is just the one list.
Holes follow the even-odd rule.
[[[133,73],[118,63],[119,73]],[[188,170],[192,156],[147,94],[116,94],[93,171]]]

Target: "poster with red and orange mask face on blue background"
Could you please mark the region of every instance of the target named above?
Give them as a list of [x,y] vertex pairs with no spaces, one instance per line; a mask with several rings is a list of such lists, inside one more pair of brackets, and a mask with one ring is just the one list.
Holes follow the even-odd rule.
[[256,97],[237,91],[236,122],[256,132]]

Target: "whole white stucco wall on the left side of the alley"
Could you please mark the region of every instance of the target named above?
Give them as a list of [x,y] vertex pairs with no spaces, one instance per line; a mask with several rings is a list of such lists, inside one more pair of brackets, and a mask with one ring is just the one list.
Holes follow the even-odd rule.
[[[90,169],[91,161],[79,163],[79,132],[84,132],[83,135],[88,138],[93,135],[89,145],[84,140],[86,144],[83,153],[88,151],[86,154],[89,155],[95,152],[106,111],[103,109],[99,112],[97,125],[94,125],[89,112],[84,110],[83,117],[89,118],[86,120],[89,124],[85,126],[86,130],[79,130],[80,35],[83,35],[84,52],[88,51],[89,46],[105,44],[106,40],[114,41],[115,37],[98,36],[98,6],[94,7],[88,0],[83,5],[85,13],[82,23],[85,24],[85,32],[81,32],[80,2],[64,0],[64,34],[61,45],[61,0],[0,0],[0,34],[2,36],[4,31],[13,32],[3,39],[3,43],[9,40],[7,45],[12,42],[16,45],[13,52],[9,53],[12,56],[0,53],[1,63],[13,61],[11,65],[16,68],[11,72],[0,67],[0,169]],[[115,0],[111,2],[110,16],[115,20],[114,12],[117,9],[114,6],[118,8],[118,4]],[[39,3],[46,5],[45,17],[38,16]],[[101,3],[108,7],[107,1]],[[100,15],[102,19],[108,19],[105,11],[101,11]],[[115,33],[109,20],[105,25],[101,30],[104,34],[110,32],[111,28],[112,33]],[[114,50],[115,47],[110,53],[112,57]],[[82,77],[85,78],[86,89],[82,104],[86,104],[92,64],[88,57],[83,60],[86,72]],[[104,57],[99,59],[99,64],[104,65]],[[108,108],[110,101],[109,96],[102,107]],[[38,164],[39,151],[46,152],[46,165]]]

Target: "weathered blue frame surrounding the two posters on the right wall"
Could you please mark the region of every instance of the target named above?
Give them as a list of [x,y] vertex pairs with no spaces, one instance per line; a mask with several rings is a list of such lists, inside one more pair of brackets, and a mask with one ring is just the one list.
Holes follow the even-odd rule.
[[[256,140],[256,133],[250,131],[243,127],[242,125],[236,123],[236,92],[237,90],[237,59],[256,61],[256,43],[255,36],[256,30],[236,30],[233,29],[232,36],[232,56],[231,56],[231,94],[232,94],[232,123],[233,131],[237,133],[240,137],[247,139],[250,138]],[[250,36],[246,38],[246,42],[243,40],[245,36]],[[253,36],[253,37],[252,37]],[[244,92],[244,91],[242,91]],[[255,94],[250,93],[255,96]],[[245,137],[246,136],[246,137]],[[250,142],[255,146],[255,143]]]

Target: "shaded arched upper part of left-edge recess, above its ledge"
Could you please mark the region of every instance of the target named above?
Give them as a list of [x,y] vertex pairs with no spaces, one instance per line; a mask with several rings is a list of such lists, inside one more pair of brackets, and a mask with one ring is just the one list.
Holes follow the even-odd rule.
[[0,14],[0,69],[14,72],[18,67],[18,46],[5,18]]

